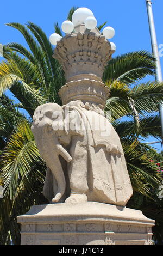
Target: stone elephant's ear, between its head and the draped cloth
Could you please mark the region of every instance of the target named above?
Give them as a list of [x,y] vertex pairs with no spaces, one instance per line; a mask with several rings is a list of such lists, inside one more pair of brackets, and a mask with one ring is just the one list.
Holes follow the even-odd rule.
[[79,112],[72,106],[63,106],[63,117],[64,117],[64,130],[68,135],[79,135],[84,136],[83,133],[83,121]]

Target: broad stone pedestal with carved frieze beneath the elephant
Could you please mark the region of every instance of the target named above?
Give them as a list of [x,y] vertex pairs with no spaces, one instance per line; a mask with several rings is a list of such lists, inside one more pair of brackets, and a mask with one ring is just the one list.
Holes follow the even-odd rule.
[[17,219],[21,245],[152,245],[154,221],[116,205],[35,205]]

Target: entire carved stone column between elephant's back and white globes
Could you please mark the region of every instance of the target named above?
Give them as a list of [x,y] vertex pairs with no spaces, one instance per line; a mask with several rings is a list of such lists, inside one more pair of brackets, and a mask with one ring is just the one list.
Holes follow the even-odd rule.
[[53,57],[65,71],[67,83],[59,90],[64,105],[82,100],[105,107],[110,90],[101,77],[112,53],[110,42],[98,31],[68,34],[58,42]]

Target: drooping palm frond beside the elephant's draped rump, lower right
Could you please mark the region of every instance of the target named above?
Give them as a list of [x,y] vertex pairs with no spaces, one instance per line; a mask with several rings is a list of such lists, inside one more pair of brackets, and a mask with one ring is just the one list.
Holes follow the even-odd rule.
[[149,161],[149,156],[141,150],[139,141],[128,138],[122,138],[121,141],[134,191],[151,197],[151,189],[161,185],[162,179],[157,172],[157,167]]

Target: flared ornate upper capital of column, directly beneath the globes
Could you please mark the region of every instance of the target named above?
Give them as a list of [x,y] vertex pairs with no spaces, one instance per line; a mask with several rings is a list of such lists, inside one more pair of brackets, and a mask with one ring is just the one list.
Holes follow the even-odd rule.
[[102,77],[112,53],[114,51],[105,36],[95,32],[77,32],[66,35],[57,43],[53,58],[61,63],[69,82],[72,77],[78,80],[76,75],[81,75],[80,79],[86,74]]

